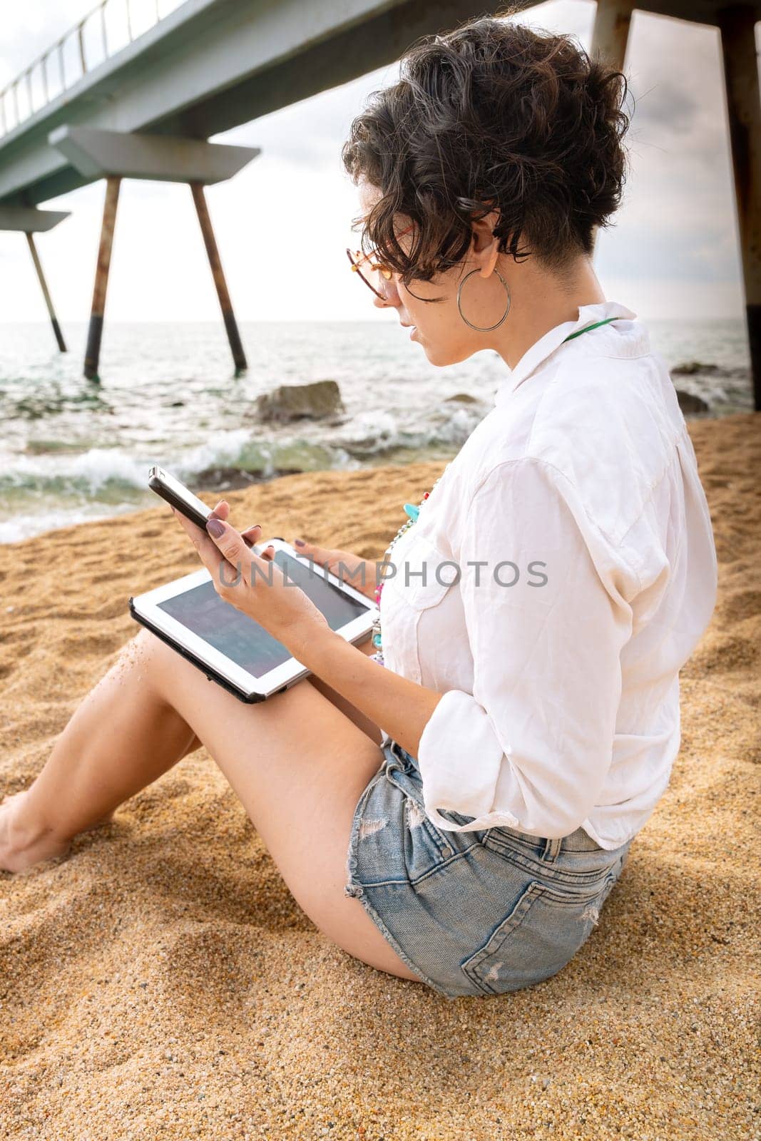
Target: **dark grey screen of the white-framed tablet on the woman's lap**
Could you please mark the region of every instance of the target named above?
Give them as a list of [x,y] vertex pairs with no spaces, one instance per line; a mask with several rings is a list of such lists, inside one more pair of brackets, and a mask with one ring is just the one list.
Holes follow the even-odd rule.
[[[370,600],[364,606],[349,598],[311,569],[308,563],[291,558],[286,551],[275,551],[274,561],[282,568],[288,581],[300,586],[322,610],[331,630],[340,630],[353,618],[364,614],[370,606]],[[256,581],[254,577],[254,589]],[[201,583],[200,586],[175,594],[156,606],[254,678],[264,677],[291,657],[282,642],[268,634],[258,622],[221,599],[212,582]]]

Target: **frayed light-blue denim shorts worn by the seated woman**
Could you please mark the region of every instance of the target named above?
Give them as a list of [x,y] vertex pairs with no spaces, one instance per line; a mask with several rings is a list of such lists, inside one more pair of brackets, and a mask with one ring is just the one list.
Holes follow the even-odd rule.
[[[475,819],[442,811],[452,824]],[[597,924],[631,840],[512,828],[446,832],[428,819],[415,759],[396,742],[354,814],[346,896],[437,994],[485,997],[556,974]]]

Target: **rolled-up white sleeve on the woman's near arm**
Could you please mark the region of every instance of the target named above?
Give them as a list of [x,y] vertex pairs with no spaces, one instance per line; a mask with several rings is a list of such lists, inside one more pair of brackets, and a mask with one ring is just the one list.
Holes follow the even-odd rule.
[[[565,836],[593,809],[613,756],[632,630],[620,555],[566,477],[533,456],[493,468],[463,518],[472,694],[445,693],[423,728],[426,810],[445,831]],[[473,819],[456,825],[439,810]]]

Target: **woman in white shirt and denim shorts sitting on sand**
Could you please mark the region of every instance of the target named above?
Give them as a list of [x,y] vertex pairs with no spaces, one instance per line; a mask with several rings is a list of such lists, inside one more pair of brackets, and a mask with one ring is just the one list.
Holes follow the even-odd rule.
[[[582,946],[669,783],[679,670],[717,589],[665,364],[592,268],[622,194],[625,91],[567,37],[483,18],[418,41],[374,92],[343,148],[358,288],[435,365],[499,353],[495,406],[389,549],[362,647],[226,502],[208,534],[177,516],[219,594],[311,675],[245,705],[141,630],[6,798],[1,867],[65,853],[203,745],[298,904],[356,958],[483,996]],[[377,565],[301,550],[374,594]]]

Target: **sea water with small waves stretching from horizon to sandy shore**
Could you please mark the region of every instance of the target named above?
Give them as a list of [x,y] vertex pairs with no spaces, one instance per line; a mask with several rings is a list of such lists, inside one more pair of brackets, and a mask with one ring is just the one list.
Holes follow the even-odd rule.
[[[706,415],[752,410],[743,322],[646,324],[670,369],[697,365],[673,379]],[[154,505],[153,463],[224,493],[284,472],[447,460],[509,375],[493,350],[436,367],[390,322],[244,323],[237,378],[221,323],[107,323],[92,382],[87,326],[65,333],[58,354],[46,325],[0,325],[0,542]],[[337,381],[340,416],[260,421],[260,394],[316,380]]]

